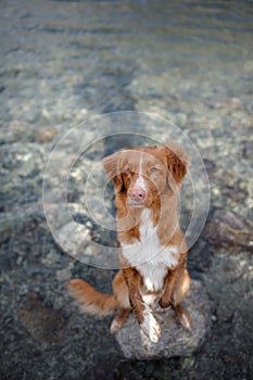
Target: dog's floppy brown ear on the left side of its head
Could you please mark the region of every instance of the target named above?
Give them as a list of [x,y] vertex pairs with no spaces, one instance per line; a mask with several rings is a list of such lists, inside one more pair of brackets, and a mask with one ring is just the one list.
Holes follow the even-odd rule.
[[121,192],[124,187],[123,176],[119,168],[121,152],[113,153],[103,159],[103,167],[106,175],[114,183],[115,192]]

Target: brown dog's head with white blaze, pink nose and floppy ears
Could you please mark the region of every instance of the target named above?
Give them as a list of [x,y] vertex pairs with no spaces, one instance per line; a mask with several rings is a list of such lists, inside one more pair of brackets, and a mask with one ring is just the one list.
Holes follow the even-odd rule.
[[115,192],[124,193],[134,207],[149,207],[162,194],[178,191],[187,173],[188,157],[173,141],[166,145],[123,149],[103,159]]

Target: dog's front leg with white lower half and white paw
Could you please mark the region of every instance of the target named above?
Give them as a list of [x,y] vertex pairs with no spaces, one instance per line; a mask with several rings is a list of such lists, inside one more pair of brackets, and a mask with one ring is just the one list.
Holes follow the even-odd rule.
[[135,268],[123,269],[123,274],[129,290],[130,305],[136,313],[138,322],[150,340],[156,343],[161,334],[161,327],[154,318],[149,305],[143,302],[140,293],[141,276]]

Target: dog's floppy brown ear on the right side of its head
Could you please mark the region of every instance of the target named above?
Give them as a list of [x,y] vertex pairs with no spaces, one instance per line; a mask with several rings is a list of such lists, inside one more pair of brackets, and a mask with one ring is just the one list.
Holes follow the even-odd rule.
[[180,187],[189,166],[188,155],[179,144],[172,140],[166,141],[165,147],[163,147],[162,150],[167,160],[168,170],[177,187]]

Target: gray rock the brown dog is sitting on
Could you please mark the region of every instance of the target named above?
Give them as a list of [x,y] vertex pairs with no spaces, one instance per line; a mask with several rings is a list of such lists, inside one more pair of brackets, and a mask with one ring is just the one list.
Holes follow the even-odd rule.
[[129,359],[155,359],[163,357],[189,356],[203,343],[211,327],[211,302],[200,281],[192,280],[191,289],[184,305],[192,318],[192,330],[185,330],[172,308],[156,316],[161,322],[162,334],[157,343],[152,343],[139,328],[131,314],[116,340],[123,355]]

